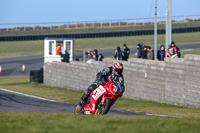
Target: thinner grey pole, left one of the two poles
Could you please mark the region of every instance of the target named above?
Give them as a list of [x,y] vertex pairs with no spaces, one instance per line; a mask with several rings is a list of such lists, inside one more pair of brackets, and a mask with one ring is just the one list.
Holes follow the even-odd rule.
[[154,22],[154,60],[157,60],[157,0],[155,0],[155,22]]

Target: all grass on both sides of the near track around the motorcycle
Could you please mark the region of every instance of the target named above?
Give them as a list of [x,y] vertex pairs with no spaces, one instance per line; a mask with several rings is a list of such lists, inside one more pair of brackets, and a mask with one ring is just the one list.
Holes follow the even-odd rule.
[[[57,101],[77,102],[83,93],[47,87],[42,84],[30,84],[28,77],[0,77],[0,87]],[[184,118],[0,112],[0,129],[2,133],[199,133],[200,131],[200,109],[137,101],[127,98],[118,99],[115,103],[115,108],[171,116],[176,115]]]

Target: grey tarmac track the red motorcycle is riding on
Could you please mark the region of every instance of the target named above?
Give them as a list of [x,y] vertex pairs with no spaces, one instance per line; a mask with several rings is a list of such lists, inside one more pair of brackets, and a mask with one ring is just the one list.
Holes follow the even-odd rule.
[[[76,105],[42,99],[0,88],[0,112],[65,112],[74,113]],[[145,115],[111,109],[110,115]]]

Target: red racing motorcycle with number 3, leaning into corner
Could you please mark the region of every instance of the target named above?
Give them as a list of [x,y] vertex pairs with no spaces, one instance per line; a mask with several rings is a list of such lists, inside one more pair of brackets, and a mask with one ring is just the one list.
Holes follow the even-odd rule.
[[109,81],[92,91],[86,105],[77,105],[75,114],[107,114],[110,107],[122,95],[118,82]]

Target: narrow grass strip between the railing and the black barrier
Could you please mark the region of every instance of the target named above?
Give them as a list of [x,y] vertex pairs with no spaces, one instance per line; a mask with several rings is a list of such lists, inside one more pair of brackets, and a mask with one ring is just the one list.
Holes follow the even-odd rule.
[[[173,23],[172,27],[191,27],[191,26],[200,26],[200,21],[194,22],[181,22],[181,23]],[[136,26],[129,26],[129,27],[112,27],[112,28],[86,28],[86,29],[68,29],[63,30],[62,28],[59,29],[36,29],[36,30],[27,30],[23,31],[23,29],[19,31],[15,30],[0,30],[0,36],[9,36],[9,35],[34,35],[34,34],[62,34],[62,33],[88,33],[88,32],[106,32],[106,31],[122,31],[122,30],[142,30],[142,29],[153,29],[154,24],[148,25],[136,25]],[[158,28],[165,28],[165,24],[158,24]]]

